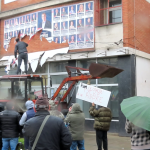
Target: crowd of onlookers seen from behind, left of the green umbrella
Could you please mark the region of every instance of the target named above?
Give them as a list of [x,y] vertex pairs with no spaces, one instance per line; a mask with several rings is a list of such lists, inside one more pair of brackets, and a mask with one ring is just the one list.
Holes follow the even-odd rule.
[[[78,103],[60,112],[54,101],[40,97],[35,104],[28,100],[25,106],[27,111],[21,116],[14,110],[12,102],[6,103],[5,110],[0,105],[2,150],[16,150],[21,133],[26,150],[85,150],[85,116]],[[107,131],[112,118],[110,109],[96,109],[93,103],[89,113],[95,117],[98,150],[102,149],[102,142],[104,150],[108,150]]]

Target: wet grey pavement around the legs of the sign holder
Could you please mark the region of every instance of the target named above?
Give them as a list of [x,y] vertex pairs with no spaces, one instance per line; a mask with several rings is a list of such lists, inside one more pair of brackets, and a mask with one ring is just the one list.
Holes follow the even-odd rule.
[[[94,131],[85,133],[85,150],[97,150],[96,135]],[[120,137],[108,133],[108,150],[130,150],[130,137]]]

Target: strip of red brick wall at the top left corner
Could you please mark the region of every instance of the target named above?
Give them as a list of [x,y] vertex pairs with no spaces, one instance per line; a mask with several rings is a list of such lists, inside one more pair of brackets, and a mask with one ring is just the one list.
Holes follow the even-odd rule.
[[8,11],[40,2],[44,2],[47,0],[17,0],[8,4],[4,4],[4,0],[2,0],[1,11]]

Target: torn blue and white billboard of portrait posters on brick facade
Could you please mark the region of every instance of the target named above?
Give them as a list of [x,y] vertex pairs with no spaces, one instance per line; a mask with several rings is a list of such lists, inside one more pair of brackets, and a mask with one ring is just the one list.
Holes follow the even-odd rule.
[[40,39],[69,43],[69,49],[94,48],[94,2],[47,9],[4,21],[4,48],[12,37],[34,35],[42,29]]

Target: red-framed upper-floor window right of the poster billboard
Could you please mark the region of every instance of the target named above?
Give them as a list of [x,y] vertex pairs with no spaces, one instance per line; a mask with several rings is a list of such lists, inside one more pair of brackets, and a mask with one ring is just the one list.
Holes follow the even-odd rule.
[[107,25],[122,22],[122,1],[121,0],[100,0],[96,25]]

